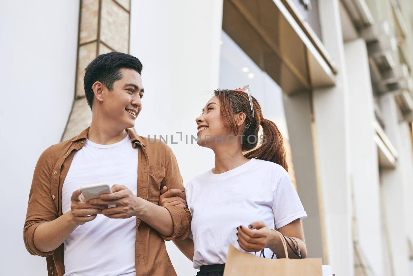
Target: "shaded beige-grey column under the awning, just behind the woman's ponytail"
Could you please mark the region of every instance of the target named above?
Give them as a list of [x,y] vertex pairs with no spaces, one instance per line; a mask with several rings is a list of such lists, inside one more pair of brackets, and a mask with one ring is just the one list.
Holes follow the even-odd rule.
[[[320,209],[317,171],[311,131],[309,93],[283,94],[285,119],[290,137],[292,161],[298,194],[308,217],[304,219],[304,236],[308,258],[323,255],[323,210]],[[323,263],[326,259],[323,258]]]

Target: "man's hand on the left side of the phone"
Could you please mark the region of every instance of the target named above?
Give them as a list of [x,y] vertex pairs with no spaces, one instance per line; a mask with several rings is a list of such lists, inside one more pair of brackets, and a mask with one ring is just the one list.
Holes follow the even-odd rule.
[[82,225],[96,218],[97,214],[101,213],[102,209],[106,209],[107,205],[92,205],[86,202],[80,189],[73,192],[71,196],[71,215],[76,224]]

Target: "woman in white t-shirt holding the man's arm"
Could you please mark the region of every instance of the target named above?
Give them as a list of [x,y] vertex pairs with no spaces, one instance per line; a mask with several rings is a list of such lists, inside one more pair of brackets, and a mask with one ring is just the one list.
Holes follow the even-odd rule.
[[[193,239],[174,243],[200,269],[197,275],[223,275],[229,244],[251,254],[263,250],[267,258],[285,257],[272,228],[286,236],[290,258],[305,258],[300,219],[307,215],[287,173],[282,136],[263,119],[249,87],[215,90],[196,123],[197,143],[214,151],[215,167],[186,186]],[[182,191],[165,191],[159,205],[186,204]]]

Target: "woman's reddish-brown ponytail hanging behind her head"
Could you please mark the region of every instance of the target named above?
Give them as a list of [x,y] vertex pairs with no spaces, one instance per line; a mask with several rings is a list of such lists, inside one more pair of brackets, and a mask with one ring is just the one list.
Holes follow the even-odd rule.
[[[261,145],[245,154],[248,159],[255,158],[271,161],[282,166],[288,171],[287,160],[285,158],[285,149],[282,145],[282,135],[273,121],[262,119],[263,140]],[[260,137],[260,138],[261,138]]]

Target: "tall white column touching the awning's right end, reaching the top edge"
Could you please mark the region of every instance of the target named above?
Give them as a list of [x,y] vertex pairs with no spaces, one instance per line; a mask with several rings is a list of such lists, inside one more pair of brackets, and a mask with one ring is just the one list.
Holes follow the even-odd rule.
[[349,89],[338,0],[319,0],[325,47],[337,64],[336,86],[313,91],[316,158],[325,212],[328,260],[333,271],[354,275],[351,228]]

